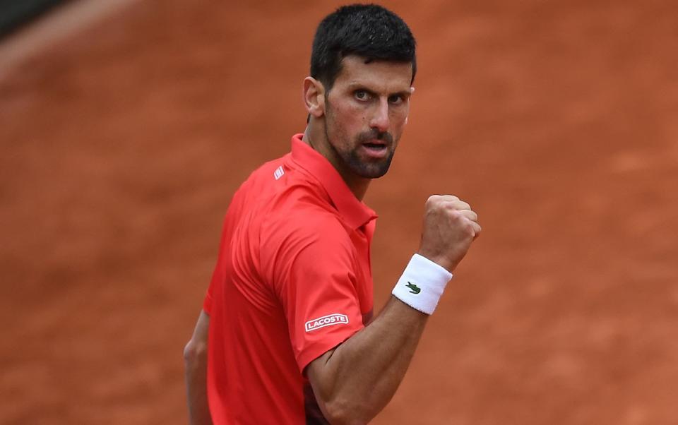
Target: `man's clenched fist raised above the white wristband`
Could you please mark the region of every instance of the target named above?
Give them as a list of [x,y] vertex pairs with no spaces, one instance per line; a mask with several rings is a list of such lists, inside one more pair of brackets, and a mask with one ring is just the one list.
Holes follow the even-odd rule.
[[452,273],[479,234],[478,215],[468,203],[456,196],[432,195],[424,207],[417,252]]

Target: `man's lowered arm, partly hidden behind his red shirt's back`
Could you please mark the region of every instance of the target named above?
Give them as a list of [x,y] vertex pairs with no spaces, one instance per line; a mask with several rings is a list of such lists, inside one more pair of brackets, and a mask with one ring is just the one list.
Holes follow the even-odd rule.
[[191,340],[184,348],[186,395],[191,425],[212,425],[207,402],[207,342],[210,316],[201,310]]

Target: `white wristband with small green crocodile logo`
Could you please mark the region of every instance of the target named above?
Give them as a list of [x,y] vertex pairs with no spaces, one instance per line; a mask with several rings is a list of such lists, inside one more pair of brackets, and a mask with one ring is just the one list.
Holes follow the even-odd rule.
[[415,254],[391,294],[412,309],[432,314],[450,279],[452,273],[446,268]]

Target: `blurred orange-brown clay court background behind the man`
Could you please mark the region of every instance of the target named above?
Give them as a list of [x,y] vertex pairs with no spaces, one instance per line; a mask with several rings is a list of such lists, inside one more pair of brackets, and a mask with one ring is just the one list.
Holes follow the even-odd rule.
[[[222,217],[340,3],[53,3],[0,1],[0,423],[186,424]],[[678,424],[678,4],[382,4],[419,72],[375,308],[429,194],[483,234],[374,424]]]

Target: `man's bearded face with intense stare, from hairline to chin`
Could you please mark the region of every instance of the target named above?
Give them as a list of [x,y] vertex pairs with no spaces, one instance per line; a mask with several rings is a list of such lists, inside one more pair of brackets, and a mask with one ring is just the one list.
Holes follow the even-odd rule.
[[411,81],[409,63],[343,59],[325,102],[328,159],[341,174],[386,174],[410,112]]

